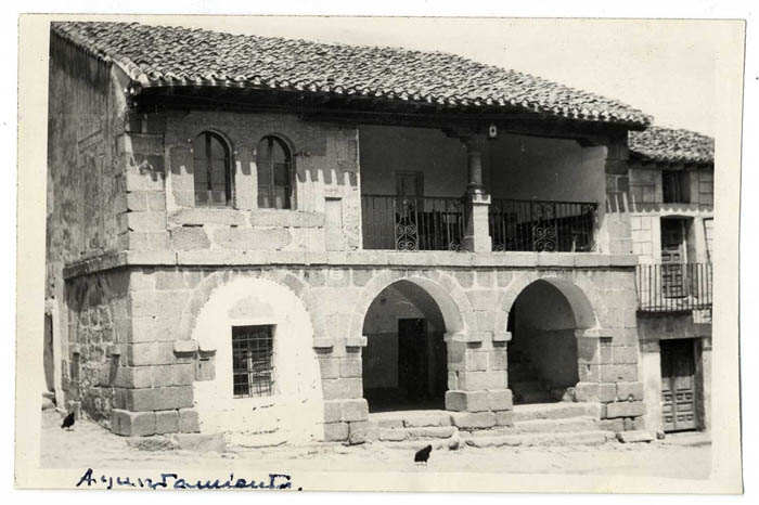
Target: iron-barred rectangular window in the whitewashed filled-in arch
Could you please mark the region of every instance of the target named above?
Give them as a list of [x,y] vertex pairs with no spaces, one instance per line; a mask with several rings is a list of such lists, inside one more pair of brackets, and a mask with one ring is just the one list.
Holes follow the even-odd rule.
[[232,327],[232,377],[234,398],[270,397],[273,326]]

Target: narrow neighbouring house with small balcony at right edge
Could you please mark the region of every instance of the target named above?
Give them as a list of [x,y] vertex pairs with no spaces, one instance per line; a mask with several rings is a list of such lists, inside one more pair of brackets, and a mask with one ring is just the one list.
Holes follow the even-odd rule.
[[715,141],[651,127],[629,142],[646,426],[708,429]]

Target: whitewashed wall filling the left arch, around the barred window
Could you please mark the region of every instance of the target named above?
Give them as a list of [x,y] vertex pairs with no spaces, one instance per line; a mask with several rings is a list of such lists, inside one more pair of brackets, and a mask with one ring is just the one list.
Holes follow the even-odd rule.
[[[209,284],[210,285],[210,284]],[[232,327],[271,325],[271,396],[234,398]],[[300,298],[269,279],[239,276],[211,289],[194,319],[191,338],[213,374],[194,383],[201,430],[240,437],[308,442],[321,437],[323,402],[313,328]]]

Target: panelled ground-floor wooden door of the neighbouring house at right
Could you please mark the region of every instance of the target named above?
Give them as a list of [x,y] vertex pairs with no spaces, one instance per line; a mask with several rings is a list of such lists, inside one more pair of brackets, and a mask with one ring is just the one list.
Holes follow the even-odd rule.
[[661,415],[665,431],[696,429],[693,340],[660,340]]

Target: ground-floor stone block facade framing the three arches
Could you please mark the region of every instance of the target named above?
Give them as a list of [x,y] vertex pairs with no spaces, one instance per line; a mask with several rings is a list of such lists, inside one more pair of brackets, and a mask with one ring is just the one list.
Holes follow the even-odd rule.
[[375,262],[374,256],[382,255],[394,254],[370,254],[366,264],[355,266],[129,267],[129,331],[118,337],[123,358],[114,383],[112,429],[123,435],[198,429],[192,384],[209,372],[201,370],[197,344],[190,340],[195,318],[215,289],[246,276],[287,286],[311,318],[325,440],[371,440],[375,433],[362,398],[363,319],[374,298],[401,279],[426,289],[443,313],[446,404],[456,412],[460,428],[511,425],[507,313],[518,294],[539,279],[578,286],[593,308],[592,327],[576,331],[578,400],[599,402],[609,429],[640,426],[643,388],[636,375],[632,269],[436,267],[433,258],[428,267],[387,267]]

